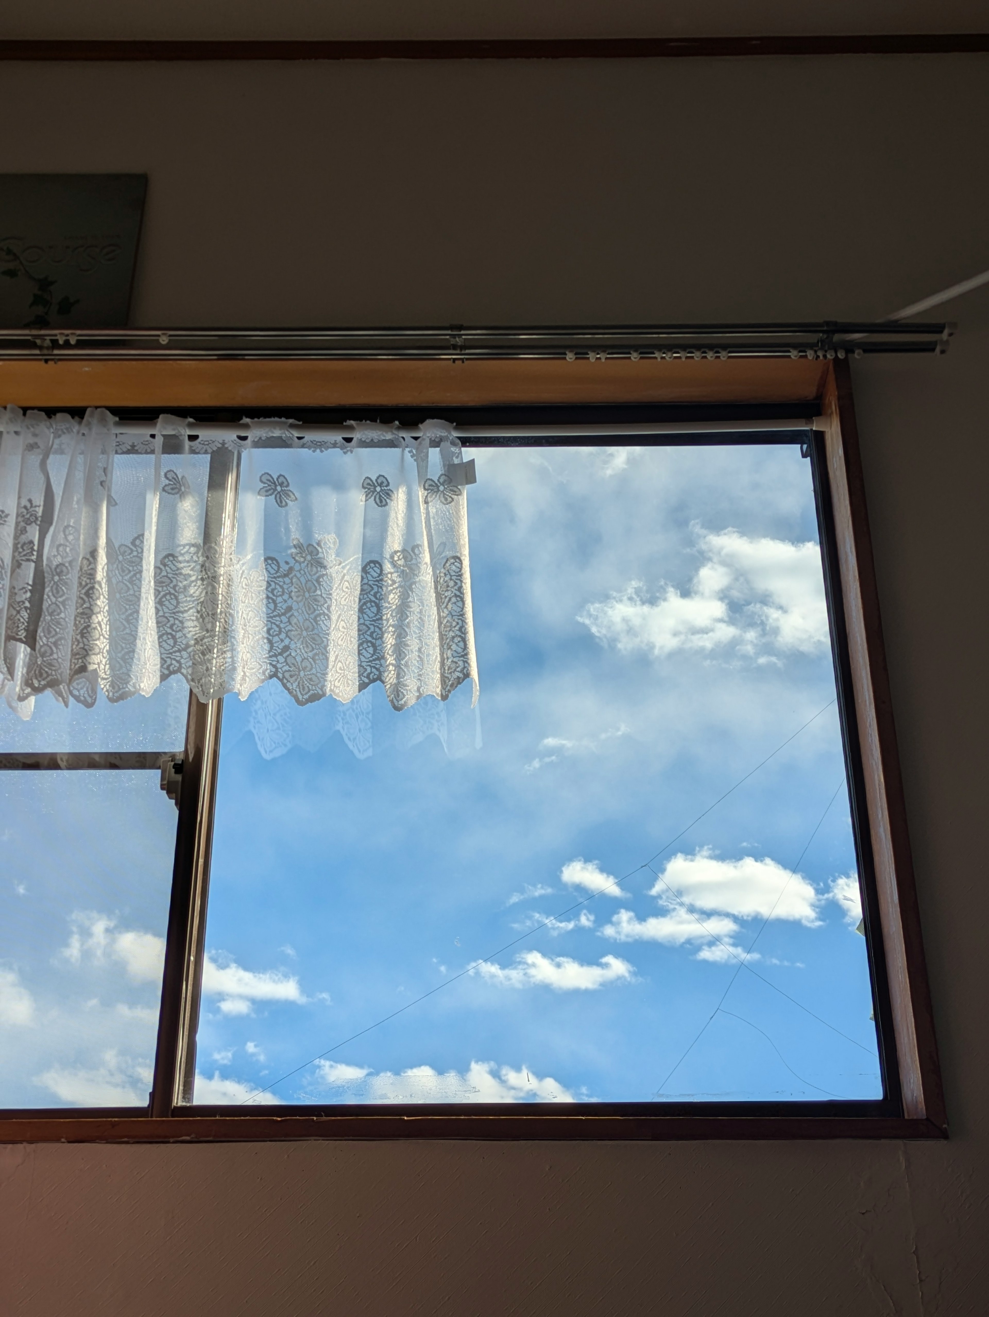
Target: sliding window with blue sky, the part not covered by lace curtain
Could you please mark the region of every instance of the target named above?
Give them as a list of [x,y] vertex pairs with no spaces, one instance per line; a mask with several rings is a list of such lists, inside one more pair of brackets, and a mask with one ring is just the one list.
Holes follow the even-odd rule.
[[[157,1050],[149,1127],[200,1137],[938,1133],[830,387],[814,429],[454,408],[477,709],[4,711],[0,1101],[137,1108]],[[271,498],[346,460],[273,450]]]

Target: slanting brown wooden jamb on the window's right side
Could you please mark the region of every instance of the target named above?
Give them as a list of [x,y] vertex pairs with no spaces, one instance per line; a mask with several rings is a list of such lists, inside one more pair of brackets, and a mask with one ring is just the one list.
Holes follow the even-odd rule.
[[847,361],[832,362],[823,417],[903,1114],[947,1130]]

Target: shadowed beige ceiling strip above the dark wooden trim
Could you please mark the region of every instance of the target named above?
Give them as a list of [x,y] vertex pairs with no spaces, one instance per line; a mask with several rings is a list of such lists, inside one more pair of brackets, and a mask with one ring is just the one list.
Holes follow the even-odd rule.
[[400,38],[985,32],[986,0],[4,0],[1,37]]

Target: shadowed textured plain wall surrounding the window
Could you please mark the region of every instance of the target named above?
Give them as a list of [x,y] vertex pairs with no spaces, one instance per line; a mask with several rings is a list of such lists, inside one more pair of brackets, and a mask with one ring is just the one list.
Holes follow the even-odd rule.
[[[989,266],[986,72],[18,66],[0,169],[149,171],[142,323],[880,316]],[[0,1148],[0,1312],[989,1309],[989,294],[946,309],[856,390],[952,1139]]]

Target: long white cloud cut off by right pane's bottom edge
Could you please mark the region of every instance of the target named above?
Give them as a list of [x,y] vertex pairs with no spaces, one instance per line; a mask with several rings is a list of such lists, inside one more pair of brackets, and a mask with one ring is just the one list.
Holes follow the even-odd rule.
[[346,1092],[354,1102],[573,1102],[574,1097],[554,1079],[540,1079],[524,1065],[471,1062],[465,1073],[432,1065],[414,1065],[392,1075],[374,1075],[366,1065],[320,1062],[320,1083]]

